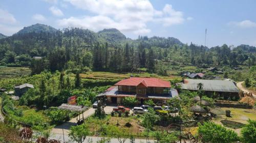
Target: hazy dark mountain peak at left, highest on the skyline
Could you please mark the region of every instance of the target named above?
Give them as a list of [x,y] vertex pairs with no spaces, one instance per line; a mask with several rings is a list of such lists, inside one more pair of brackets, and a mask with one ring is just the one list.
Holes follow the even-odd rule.
[[55,33],[58,30],[56,30],[54,27],[52,26],[48,26],[45,24],[34,24],[28,27],[24,27],[22,30],[20,30],[19,32],[17,32],[17,34],[27,34],[27,33],[41,33],[41,32],[45,32],[45,33]]

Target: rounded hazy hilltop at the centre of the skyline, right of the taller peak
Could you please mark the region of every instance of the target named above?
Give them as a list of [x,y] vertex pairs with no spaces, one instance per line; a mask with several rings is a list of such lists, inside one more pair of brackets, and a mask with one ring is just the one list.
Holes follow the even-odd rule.
[[123,35],[116,28],[104,29],[102,31],[99,31],[98,35],[110,43],[126,40],[125,35]]

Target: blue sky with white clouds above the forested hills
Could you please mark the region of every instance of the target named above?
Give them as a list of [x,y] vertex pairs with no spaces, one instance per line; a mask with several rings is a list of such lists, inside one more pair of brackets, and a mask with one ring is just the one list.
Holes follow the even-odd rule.
[[183,43],[256,46],[253,0],[1,0],[0,33],[11,36],[36,23],[117,28],[126,37],[175,37]]

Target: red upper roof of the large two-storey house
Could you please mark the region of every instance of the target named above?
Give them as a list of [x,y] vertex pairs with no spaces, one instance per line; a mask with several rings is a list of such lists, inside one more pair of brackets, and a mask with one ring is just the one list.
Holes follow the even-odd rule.
[[158,78],[152,78],[152,77],[130,77],[128,79],[123,79],[117,82],[115,85],[137,86],[140,83],[145,85],[145,87],[170,88],[169,81],[165,81]]

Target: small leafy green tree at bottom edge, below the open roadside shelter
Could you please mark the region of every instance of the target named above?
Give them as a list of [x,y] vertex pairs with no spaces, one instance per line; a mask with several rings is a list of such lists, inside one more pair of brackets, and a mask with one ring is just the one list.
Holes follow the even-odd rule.
[[89,135],[90,131],[86,124],[72,126],[70,128],[69,137],[78,143],[82,143]]

